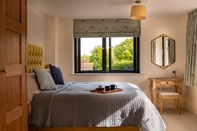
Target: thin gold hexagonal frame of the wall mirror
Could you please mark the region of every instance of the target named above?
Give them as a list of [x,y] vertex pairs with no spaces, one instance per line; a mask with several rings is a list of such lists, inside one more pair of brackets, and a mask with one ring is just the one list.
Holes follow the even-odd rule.
[[[160,66],[160,65],[156,64],[156,63],[153,61],[153,48],[152,48],[152,47],[153,47],[153,41],[155,41],[156,39],[158,39],[158,38],[160,38],[160,37],[162,37],[162,36],[167,37],[167,38],[169,38],[169,39],[171,39],[171,40],[174,41],[174,62],[172,62],[172,63],[170,63],[169,65],[164,66],[164,67],[162,67],[162,65]],[[163,43],[163,41],[162,41],[162,43]],[[175,62],[176,62],[176,41],[175,41],[174,39],[172,39],[171,37],[165,35],[165,34],[161,34],[160,36],[158,36],[158,37],[154,38],[153,40],[151,40],[151,62],[152,62],[153,64],[155,64],[156,66],[162,68],[162,69],[165,69],[165,68],[167,68],[168,66],[172,65],[173,63],[175,63]]]

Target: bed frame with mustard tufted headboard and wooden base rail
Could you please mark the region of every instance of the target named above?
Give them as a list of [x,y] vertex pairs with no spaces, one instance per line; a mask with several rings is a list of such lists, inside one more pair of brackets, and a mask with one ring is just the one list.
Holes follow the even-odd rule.
[[[28,44],[28,73],[32,73],[33,68],[43,68],[42,48]],[[88,126],[68,126],[68,127],[34,127],[29,125],[29,131],[140,131],[138,127],[119,126],[119,127],[88,127]]]

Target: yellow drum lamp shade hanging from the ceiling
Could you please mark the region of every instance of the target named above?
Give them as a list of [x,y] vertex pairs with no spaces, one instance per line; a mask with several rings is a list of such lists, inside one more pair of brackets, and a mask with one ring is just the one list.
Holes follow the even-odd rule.
[[146,19],[146,7],[143,5],[134,5],[131,7],[130,18],[133,20]]

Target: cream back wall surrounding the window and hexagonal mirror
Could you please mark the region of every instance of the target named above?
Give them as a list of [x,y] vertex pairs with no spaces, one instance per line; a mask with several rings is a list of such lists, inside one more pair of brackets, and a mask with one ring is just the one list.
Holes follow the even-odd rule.
[[[39,15],[37,18],[42,19]],[[46,49],[45,61],[46,64],[51,63],[59,66],[63,72],[65,81],[131,82],[138,85],[145,94],[150,96],[150,82],[148,78],[172,77],[173,70],[177,71],[177,76],[179,78],[183,78],[185,65],[186,22],[187,16],[152,17],[141,21],[140,74],[73,74],[73,20],[47,16],[45,23],[46,36],[43,37],[46,38],[44,47]],[[31,28],[34,28],[34,25],[29,25],[32,26]],[[176,41],[176,62],[165,69],[161,69],[151,63],[151,40],[161,34],[166,34]],[[35,36],[28,35],[28,37],[30,37],[28,38],[29,40],[31,37]],[[40,46],[42,46],[42,44],[40,44]],[[183,91],[184,90],[185,88]],[[191,92],[189,93],[193,93],[192,91],[193,89],[191,88]],[[184,97],[186,96],[184,95]],[[190,100],[190,97],[186,98],[187,100]],[[185,99],[183,99],[183,102],[185,102]],[[171,103],[165,103],[164,106],[171,107],[173,105]],[[189,106],[193,107],[192,103]],[[197,105],[194,108],[197,109]]]

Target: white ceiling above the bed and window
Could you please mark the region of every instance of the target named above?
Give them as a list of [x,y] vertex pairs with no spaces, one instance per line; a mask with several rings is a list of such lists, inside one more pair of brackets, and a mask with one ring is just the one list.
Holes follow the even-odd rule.
[[[27,0],[47,16],[68,19],[129,18],[135,0]],[[197,0],[142,0],[147,17],[186,15],[197,8]]]

